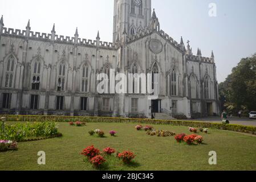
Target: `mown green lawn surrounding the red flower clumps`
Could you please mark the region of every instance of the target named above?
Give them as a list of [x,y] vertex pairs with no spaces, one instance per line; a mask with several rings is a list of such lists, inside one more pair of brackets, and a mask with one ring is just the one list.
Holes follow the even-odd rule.
[[[59,123],[62,138],[22,142],[18,151],[0,152],[0,170],[95,170],[84,156],[87,146],[94,144],[117,151],[129,150],[137,155],[133,163],[124,165],[120,160],[108,158],[105,170],[256,170],[256,137],[223,130],[210,130],[202,134],[204,144],[188,146],[177,143],[174,137],[148,136],[145,131],[136,131],[135,124],[87,123],[87,126],[69,126]],[[152,125],[155,129],[188,132],[188,127]],[[101,129],[106,138],[91,137],[88,131]],[[110,137],[108,131],[118,132]],[[46,165],[37,164],[38,151],[46,152]],[[208,163],[209,151],[217,152],[217,165]]]

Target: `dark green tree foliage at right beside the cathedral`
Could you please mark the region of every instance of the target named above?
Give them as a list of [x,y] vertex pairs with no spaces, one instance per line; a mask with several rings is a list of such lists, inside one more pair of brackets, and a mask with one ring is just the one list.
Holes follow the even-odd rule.
[[256,110],[256,53],[243,58],[219,84],[222,109],[230,112]]

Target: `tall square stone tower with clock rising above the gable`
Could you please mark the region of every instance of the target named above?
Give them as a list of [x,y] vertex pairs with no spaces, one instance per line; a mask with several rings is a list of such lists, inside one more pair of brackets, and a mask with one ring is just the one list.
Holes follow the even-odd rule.
[[149,27],[151,0],[115,0],[113,17],[113,43],[120,40],[125,31],[128,37]]

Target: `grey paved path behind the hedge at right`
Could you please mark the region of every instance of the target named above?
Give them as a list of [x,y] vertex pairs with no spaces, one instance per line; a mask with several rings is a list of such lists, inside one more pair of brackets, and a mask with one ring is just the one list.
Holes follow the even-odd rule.
[[[235,125],[245,125],[245,126],[256,126],[256,119],[249,118],[238,118],[238,117],[229,117],[230,124]],[[202,122],[211,122],[211,123],[222,123],[220,117],[208,117],[208,118],[199,118],[199,119],[190,119],[189,121],[202,121]]]

